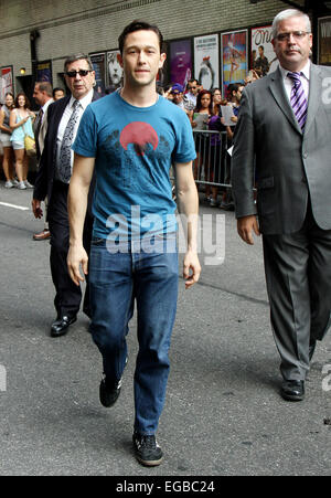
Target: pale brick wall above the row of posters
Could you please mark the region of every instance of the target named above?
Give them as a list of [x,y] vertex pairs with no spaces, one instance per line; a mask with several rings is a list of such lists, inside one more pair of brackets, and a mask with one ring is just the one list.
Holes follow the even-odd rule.
[[14,78],[20,67],[31,74],[30,32],[38,29],[38,57],[52,60],[58,85],[66,55],[116,49],[122,28],[134,19],[158,24],[164,39],[173,40],[268,23],[286,8],[281,0],[0,1],[0,66],[13,65]]

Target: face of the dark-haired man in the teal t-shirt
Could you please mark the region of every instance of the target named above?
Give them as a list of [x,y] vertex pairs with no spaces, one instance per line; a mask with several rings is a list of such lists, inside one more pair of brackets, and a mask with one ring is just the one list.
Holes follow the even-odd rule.
[[164,60],[166,54],[160,53],[159,38],[150,30],[129,33],[125,40],[122,55],[118,55],[124,68],[125,84],[134,88],[154,84]]

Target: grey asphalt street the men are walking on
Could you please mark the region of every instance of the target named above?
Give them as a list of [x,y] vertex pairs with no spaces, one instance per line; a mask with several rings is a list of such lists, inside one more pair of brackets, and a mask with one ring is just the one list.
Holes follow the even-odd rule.
[[[234,213],[201,208],[221,216],[217,226],[225,216],[225,261],[220,253],[217,266],[206,265],[202,254],[199,285],[185,292],[180,279],[158,432],[166,457],[146,469],[131,451],[136,321],[120,399],[106,410],[87,318],[79,315],[67,336],[50,338],[50,245],[32,240],[43,222],[33,219],[31,195],[0,183],[0,475],[331,475],[331,426],[324,424],[331,391],[322,389],[323,378],[331,388],[322,373],[328,364],[331,373],[331,335],[318,347],[306,401],[282,401],[261,243],[239,241]],[[205,218],[204,231],[209,223]]]

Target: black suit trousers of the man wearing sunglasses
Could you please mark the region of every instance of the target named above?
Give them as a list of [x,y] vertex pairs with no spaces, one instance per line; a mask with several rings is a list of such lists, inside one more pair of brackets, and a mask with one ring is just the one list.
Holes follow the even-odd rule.
[[[71,279],[66,264],[70,246],[67,193],[68,186],[55,181],[47,212],[51,231],[51,273],[56,290],[54,305],[58,317],[77,315],[82,300],[81,287],[76,286]],[[92,223],[85,223],[85,226],[84,246],[87,254],[89,254]],[[89,286],[87,279],[83,310],[89,315]]]

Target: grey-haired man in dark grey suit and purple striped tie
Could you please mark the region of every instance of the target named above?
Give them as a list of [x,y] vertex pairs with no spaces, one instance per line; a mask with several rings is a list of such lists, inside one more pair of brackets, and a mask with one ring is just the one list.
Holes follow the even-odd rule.
[[331,68],[309,60],[308,15],[288,9],[273,28],[280,67],[243,94],[233,188],[239,235],[253,244],[253,232],[263,233],[281,395],[301,401],[316,342],[330,327]]

